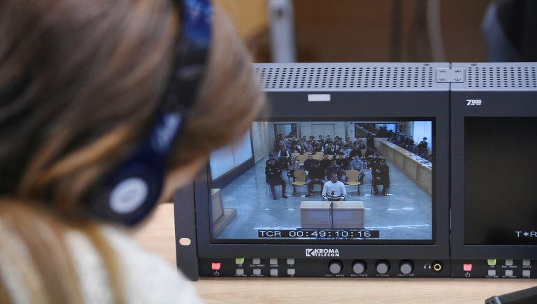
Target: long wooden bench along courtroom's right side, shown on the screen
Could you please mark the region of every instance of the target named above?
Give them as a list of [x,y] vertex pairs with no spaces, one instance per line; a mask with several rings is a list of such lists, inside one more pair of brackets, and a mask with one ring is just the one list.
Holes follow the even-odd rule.
[[432,163],[389,141],[379,141],[379,151],[412,182],[432,195]]

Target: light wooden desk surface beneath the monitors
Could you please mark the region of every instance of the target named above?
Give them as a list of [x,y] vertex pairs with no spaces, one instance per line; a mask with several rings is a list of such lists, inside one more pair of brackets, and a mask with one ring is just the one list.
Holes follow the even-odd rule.
[[[135,238],[175,264],[174,212],[162,204]],[[206,278],[195,282],[209,303],[484,303],[534,287],[523,279]]]

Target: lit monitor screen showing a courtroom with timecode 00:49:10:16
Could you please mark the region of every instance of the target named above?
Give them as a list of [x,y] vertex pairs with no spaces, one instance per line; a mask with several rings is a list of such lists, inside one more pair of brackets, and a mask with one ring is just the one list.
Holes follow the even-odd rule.
[[256,121],[208,170],[211,243],[434,243],[434,118]]

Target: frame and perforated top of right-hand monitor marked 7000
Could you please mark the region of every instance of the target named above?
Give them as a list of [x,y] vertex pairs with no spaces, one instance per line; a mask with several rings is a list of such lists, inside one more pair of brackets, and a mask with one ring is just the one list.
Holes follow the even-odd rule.
[[[517,74],[510,68],[537,67],[536,63],[453,63],[453,67],[483,69],[485,73],[473,84],[469,76],[464,83],[451,85],[451,259],[536,258],[537,246],[476,245],[464,243],[464,119],[467,117],[536,117],[537,91],[519,86]],[[497,69],[511,77],[501,82],[490,77]],[[492,74],[492,73],[491,73]],[[476,75],[474,75],[476,77]],[[477,77],[476,77],[477,78]],[[522,78],[522,83],[525,78]],[[506,81],[504,83],[504,80]],[[479,81],[479,83],[478,83]],[[468,100],[481,100],[469,105]]]

